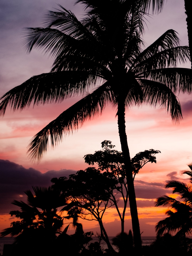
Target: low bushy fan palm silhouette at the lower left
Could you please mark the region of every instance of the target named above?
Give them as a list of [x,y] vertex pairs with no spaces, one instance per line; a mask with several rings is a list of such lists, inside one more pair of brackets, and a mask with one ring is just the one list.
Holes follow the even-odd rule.
[[56,234],[61,233],[63,218],[57,214],[57,208],[67,205],[65,194],[52,187],[33,187],[33,190],[34,194],[30,190],[25,191],[28,204],[16,200],[12,202],[21,211],[11,211],[10,215],[22,220],[12,222],[10,228],[1,232],[1,237],[17,236],[15,243],[21,243],[35,232],[36,235],[46,235],[46,240],[52,241],[57,238]]

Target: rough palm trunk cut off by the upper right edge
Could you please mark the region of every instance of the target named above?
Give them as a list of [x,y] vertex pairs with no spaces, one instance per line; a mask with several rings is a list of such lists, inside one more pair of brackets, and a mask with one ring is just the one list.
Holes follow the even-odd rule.
[[[190,58],[192,61],[192,16],[191,16],[191,0],[185,0],[185,13],[187,15],[187,32],[188,32],[188,40],[189,40],[189,52]],[[191,62],[192,68],[192,62]]]

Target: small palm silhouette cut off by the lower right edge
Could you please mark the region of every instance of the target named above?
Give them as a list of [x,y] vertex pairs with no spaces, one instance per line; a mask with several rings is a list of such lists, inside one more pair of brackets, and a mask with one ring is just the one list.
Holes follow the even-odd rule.
[[[190,170],[184,172],[184,174],[190,176],[190,183],[192,183],[192,164],[188,166]],[[165,206],[171,209],[166,212],[169,217],[157,223],[156,231],[159,235],[165,232],[177,232],[177,236],[185,238],[186,235],[192,234],[192,185],[171,180],[166,188],[174,188],[172,193],[179,194],[181,201],[168,196],[157,198],[156,206]]]

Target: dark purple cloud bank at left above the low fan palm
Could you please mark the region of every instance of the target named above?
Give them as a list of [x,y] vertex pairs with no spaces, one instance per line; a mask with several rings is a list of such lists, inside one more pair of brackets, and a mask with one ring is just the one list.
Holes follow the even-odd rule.
[[41,173],[33,168],[26,169],[22,165],[8,160],[0,160],[0,214],[9,213],[16,206],[13,200],[25,200],[24,191],[32,189],[32,186],[50,186],[52,178],[68,177],[76,173],[75,170],[63,169],[60,171],[48,171]]

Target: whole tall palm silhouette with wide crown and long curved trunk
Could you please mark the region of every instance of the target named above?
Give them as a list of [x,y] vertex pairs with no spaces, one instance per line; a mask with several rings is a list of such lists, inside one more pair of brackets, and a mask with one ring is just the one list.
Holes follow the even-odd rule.
[[[48,137],[55,147],[83,122],[99,115],[106,104],[117,109],[119,136],[124,157],[134,244],[141,249],[132,165],[125,132],[125,110],[142,102],[165,107],[173,121],[182,118],[177,91],[191,92],[191,70],[177,68],[189,59],[188,47],[179,46],[173,30],[166,31],[142,50],[144,15],[149,0],[78,0],[86,8],[81,22],[61,7],[49,11],[46,28],[27,28],[25,46],[50,51],[55,61],[50,73],[31,77],[3,95],[0,111],[8,104],[14,110],[33,104],[60,102],[73,95],[84,97],[38,132],[28,152],[39,161],[47,150]],[[153,11],[163,0],[153,0]],[[91,92],[91,93],[90,93]]]

